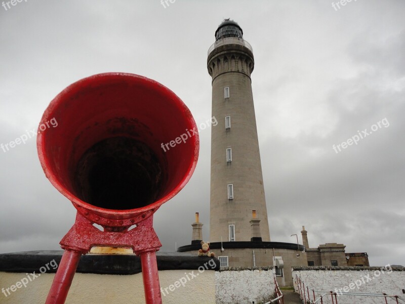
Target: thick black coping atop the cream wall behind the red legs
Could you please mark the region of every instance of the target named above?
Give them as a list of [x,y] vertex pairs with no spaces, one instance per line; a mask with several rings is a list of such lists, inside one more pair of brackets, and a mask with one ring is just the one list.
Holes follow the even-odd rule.
[[[0,254],[0,272],[39,273],[39,269],[52,260],[59,265],[63,250],[24,251]],[[216,257],[197,256],[179,252],[156,252],[158,270],[219,270]],[[212,260],[212,261],[210,261]],[[53,264],[55,265],[55,262]],[[46,273],[56,273],[49,264]],[[44,273],[44,268],[42,269]],[[86,254],[82,255],[77,273],[103,275],[134,275],[141,273],[141,260],[135,254]]]

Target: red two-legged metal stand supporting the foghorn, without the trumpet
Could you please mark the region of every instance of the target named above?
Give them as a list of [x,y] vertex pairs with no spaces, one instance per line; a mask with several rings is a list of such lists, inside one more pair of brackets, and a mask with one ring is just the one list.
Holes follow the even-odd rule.
[[132,248],[135,254],[141,257],[146,303],[161,304],[155,253],[161,247],[161,243],[152,224],[153,215],[130,231],[100,231],[92,225],[91,221],[77,212],[74,225],[60,242],[65,252],[45,304],[64,304],[80,256],[88,253],[94,246]]

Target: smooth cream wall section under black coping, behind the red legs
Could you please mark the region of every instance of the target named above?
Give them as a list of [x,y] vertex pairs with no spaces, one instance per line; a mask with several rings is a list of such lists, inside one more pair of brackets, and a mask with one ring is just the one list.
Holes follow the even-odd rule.
[[[194,270],[159,271],[161,288],[168,288],[168,293],[161,293],[163,304],[199,303],[198,299],[205,299],[204,303],[215,303],[215,272],[206,270],[198,273]],[[186,274],[185,274],[186,273]],[[190,280],[187,279],[190,278]],[[22,286],[7,297],[0,293],[1,304],[44,304],[55,274],[41,274],[32,282]],[[26,278],[25,273],[0,272],[0,289],[9,288],[16,282]],[[180,279],[187,280],[181,285]],[[183,279],[183,282],[184,282]],[[176,284],[176,281],[179,283]],[[179,287],[176,287],[175,284]],[[180,284],[180,285],[179,285]],[[169,287],[173,291],[170,291]],[[1,290],[0,290],[1,291]],[[6,291],[7,294],[7,291]],[[96,275],[76,273],[70,287],[66,304],[111,304],[111,303],[144,304],[142,274]],[[203,303],[203,301],[201,301]]]

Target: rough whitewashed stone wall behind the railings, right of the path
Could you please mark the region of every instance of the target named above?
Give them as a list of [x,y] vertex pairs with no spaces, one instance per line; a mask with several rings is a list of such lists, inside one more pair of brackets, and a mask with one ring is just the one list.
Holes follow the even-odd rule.
[[[398,295],[404,299],[405,294],[405,268],[385,267],[294,267],[294,288],[298,292],[296,276],[305,286],[315,292],[316,298],[322,294],[320,291],[334,291],[338,294],[339,304],[380,304],[385,302],[383,297],[348,296],[345,292],[386,293]],[[306,289],[306,288],[305,288]],[[394,302],[388,299],[388,303]],[[331,296],[323,297],[323,303],[332,303]]]

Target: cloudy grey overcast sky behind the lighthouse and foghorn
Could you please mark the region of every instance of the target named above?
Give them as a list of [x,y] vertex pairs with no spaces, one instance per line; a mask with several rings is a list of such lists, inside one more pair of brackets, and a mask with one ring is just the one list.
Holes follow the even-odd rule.
[[[310,247],[344,243],[346,252],[368,252],[371,265],[405,265],[404,16],[402,0],[340,9],[320,0],[176,0],[166,8],[159,0],[27,0],[0,7],[0,143],[36,129],[69,84],[110,71],[164,84],[204,123],[211,117],[207,50],[231,18],[255,56],[271,240],[295,242],[290,235],[305,225]],[[333,149],[375,124],[356,145]],[[194,212],[209,241],[210,136],[200,131],[193,177],[154,216],[161,250],[191,242]],[[46,179],[35,139],[0,149],[0,168],[0,252],[60,248],[75,209]]]

